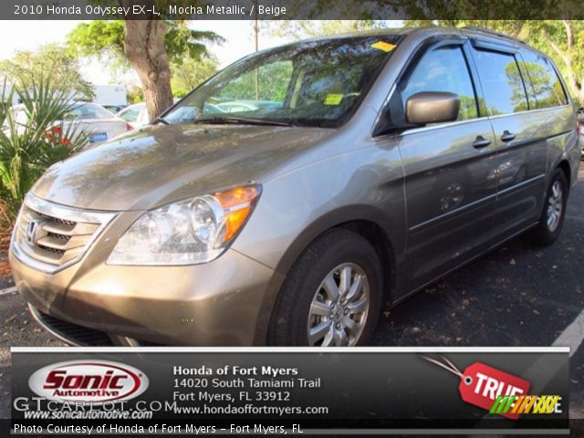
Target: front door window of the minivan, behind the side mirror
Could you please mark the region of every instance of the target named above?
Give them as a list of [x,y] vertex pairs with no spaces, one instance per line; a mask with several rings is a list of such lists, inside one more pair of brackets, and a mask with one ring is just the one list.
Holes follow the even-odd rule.
[[438,47],[420,59],[407,82],[401,86],[403,104],[414,94],[424,91],[446,91],[458,95],[458,120],[478,117],[473,81],[459,46]]

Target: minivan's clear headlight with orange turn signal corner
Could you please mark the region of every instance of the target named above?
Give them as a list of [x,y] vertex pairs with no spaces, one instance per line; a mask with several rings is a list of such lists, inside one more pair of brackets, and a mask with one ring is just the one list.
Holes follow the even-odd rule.
[[142,214],[121,236],[109,265],[194,265],[221,255],[244,226],[259,185],[237,187]]

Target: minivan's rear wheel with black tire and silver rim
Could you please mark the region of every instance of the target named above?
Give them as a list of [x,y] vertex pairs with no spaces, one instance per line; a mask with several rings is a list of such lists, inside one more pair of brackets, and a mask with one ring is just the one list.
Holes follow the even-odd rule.
[[539,223],[529,235],[532,242],[537,245],[547,246],[558,239],[566,217],[567,201],[568,182],[566,181],[566,175],[561,169],[556,169],[551,183],[547,187],[546,200]]

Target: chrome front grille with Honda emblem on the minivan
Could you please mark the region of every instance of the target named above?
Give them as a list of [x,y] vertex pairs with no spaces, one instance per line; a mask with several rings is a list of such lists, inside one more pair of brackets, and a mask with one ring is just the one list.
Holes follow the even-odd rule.
[[16,223],[14,253],[32,267],[57,272],[78,262],[114,215],[48,203],[28,194]]

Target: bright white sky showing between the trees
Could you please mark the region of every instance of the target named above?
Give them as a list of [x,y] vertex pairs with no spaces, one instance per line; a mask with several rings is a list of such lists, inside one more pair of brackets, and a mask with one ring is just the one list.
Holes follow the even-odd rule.
[[[31,20],[3,21],[0,26],[0,60],[12,57],[19,50],[35,50],[47,43],[64,43],[70,32],[80,21],[73,20]],[[219,21],[199,20],[194,22],[198,30],[213,30],[225,38],[221,46],[211,46],[211,51],[219,58],[220,67],[225,67],[240,57],[254,51],[252,39],[252,22],[244,20]],[[259,48],[274,47],[287,43],[287,38],[260,36]],[[84,63],[81,68],[84,78],[95,85],[117,84],[119,78],[112,78],[108,68],[103,68],[99,61]],[[124,83],[138,84],[134,73],[122,78]]]

